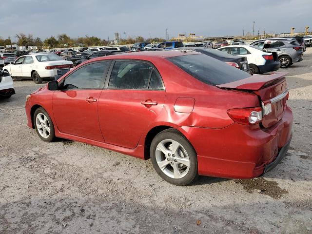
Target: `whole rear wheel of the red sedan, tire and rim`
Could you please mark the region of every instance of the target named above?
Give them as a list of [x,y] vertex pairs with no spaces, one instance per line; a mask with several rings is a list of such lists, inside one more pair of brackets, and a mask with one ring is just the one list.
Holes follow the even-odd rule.
[[195,149],[176,129],[158,133],[152,140],[150,155],[157,174],[169,183],[188,185],[198,177]]

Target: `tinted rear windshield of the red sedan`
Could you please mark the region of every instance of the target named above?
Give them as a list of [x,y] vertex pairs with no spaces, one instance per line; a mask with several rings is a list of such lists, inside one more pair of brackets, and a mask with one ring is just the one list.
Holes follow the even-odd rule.
[[185,55],[167,59],[191,76],[210,85],[226,84],[250,77],[247,72],[206,55]]

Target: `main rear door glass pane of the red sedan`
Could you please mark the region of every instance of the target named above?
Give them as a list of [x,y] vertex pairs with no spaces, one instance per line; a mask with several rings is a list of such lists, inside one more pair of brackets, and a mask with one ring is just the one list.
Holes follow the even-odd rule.
[[116,61],[109,80],[110,89],[148,89],[153,67],[145,62]]

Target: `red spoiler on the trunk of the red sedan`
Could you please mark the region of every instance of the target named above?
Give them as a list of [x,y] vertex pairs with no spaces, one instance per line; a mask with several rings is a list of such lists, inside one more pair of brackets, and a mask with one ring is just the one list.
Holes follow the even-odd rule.
[[218,84],[219,88],[240,89],[240,90],[259,90],[266,84],[284,78],[288,72],[276,72],[272,75],[253,75],[251,77],[237,80],[231,83]]

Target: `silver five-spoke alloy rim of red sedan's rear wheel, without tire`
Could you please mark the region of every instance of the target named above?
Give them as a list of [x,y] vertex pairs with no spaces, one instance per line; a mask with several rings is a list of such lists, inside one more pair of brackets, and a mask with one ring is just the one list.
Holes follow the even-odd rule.
[[166,176],[175,179],[186,176],[190,169],[190,158],[186,150],[179,142],[172,139],[165,139],[158,143],[156,162]]

